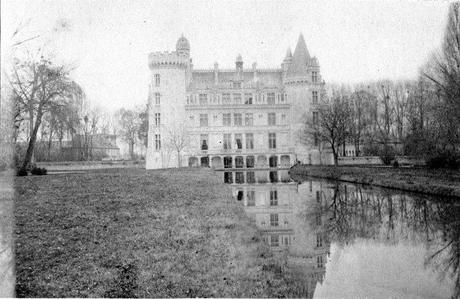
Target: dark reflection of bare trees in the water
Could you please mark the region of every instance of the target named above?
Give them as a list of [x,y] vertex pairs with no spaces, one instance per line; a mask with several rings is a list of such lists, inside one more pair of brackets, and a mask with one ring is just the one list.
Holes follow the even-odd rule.
[[[326,215],[319,226],[331,242],[341,245],[356,239],[385,243],[424,243],[425,266],[454,282],[453,298],[460,297],[460,205],[451,199],[407,195],[385,189],[334,183],[324,188],[321,202],[307,212],[312,227],[315,215]],[[319,228],[317,228],[319,229]]]

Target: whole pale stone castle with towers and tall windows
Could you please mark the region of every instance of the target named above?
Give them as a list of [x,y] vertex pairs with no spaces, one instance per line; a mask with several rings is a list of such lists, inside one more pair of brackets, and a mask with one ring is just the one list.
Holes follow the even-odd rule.
[[299,36],[280,68],[194,69],[190,43],[148,59],[149,133],[146,168],[287,168],[321,160],[302,134],[324,88],[319,63]]

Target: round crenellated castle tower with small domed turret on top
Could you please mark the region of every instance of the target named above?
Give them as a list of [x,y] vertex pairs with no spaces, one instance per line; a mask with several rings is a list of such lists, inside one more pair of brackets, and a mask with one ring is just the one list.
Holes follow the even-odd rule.
[[176,51],[153,52],[149,55],[151,77],[147,169],[184,165],[177,151],[177,143],[187,137],[185,104],[190,64],[190,43],[184,36],[177,41]]

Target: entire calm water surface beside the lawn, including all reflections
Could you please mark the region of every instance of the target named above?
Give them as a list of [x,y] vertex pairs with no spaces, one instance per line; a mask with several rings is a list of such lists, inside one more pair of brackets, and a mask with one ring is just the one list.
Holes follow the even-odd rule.
[[283,273],[300,277],[291,294],[459,297],[458,203],[311,178],[294,182],[287,170],[222,178],[286,265]]

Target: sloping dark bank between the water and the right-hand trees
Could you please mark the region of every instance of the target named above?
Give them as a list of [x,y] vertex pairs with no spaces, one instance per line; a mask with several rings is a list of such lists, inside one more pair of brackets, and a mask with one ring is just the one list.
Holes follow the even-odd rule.
[[460,198],[460,171],[376,166],[296,165],[291,176],[311,176],[425,194]]

